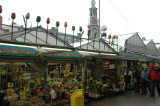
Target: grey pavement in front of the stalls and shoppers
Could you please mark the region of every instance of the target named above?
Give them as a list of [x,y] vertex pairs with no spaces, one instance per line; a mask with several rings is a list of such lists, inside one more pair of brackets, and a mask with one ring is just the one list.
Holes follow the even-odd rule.
[[150,97],[149,93],[140,95],[135,92],[125,92],[122,95],[91,101],[85,106],[160,106],[160,96],[157,92],[155,97]]

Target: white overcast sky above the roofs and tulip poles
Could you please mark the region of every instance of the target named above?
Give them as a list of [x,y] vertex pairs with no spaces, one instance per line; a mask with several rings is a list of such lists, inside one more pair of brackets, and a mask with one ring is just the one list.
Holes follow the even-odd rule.
[[[99,0],[96,7],[99,12]],[[160,0],[101,0],[101,26],[107,26],[107,35],[122,35],[139,32],[140,37],[160,42]],[[67,33],[72,34],[72,26],[79,32],[79,26],[87,34],[89,8],[91,0],[0,0],[3,12],[3,24],[11,24],[11,13],[16,13],[14,20],[24,25],[22,15],[30,12],[28,26],[36,26],[36,17],[41,16],[39,25],[46,28],[46,19],[50,18],[49,27],[60,22],[59,31],[64,32],[64,22],[68,23]]]

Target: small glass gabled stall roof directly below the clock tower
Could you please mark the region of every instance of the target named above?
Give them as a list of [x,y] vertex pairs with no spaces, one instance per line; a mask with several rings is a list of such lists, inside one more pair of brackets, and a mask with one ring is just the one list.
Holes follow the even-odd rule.
[[92,39],[92,40],[86,40],[83,39],[82,42],[76,42],[72,43],[72,46],[74,46],[80,53],[83,55],[99,55],[99,54],[118,54],[111,46],[108,45],[108,43],[102,39]]

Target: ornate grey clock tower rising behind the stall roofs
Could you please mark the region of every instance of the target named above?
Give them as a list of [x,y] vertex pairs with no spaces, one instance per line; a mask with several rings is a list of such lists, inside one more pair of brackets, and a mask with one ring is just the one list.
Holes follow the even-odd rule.
[[88,24],[88,28],[91,30],[90,38],[94,38],[94,32],[97,32],[96,38],[99,38],[99,25],[97,19],[97,8],[95,7],[95,0],[91,1],[91,8],[89,9],[90,21]]

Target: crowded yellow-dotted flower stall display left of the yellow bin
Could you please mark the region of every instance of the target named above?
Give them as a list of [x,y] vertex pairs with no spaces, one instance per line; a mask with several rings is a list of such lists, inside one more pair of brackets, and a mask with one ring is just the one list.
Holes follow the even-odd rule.
[[10,106],[68,103],[70,94],[82,89],[83,67],[52,63],[43,74],[32,63],[0,63],[0,91]]

